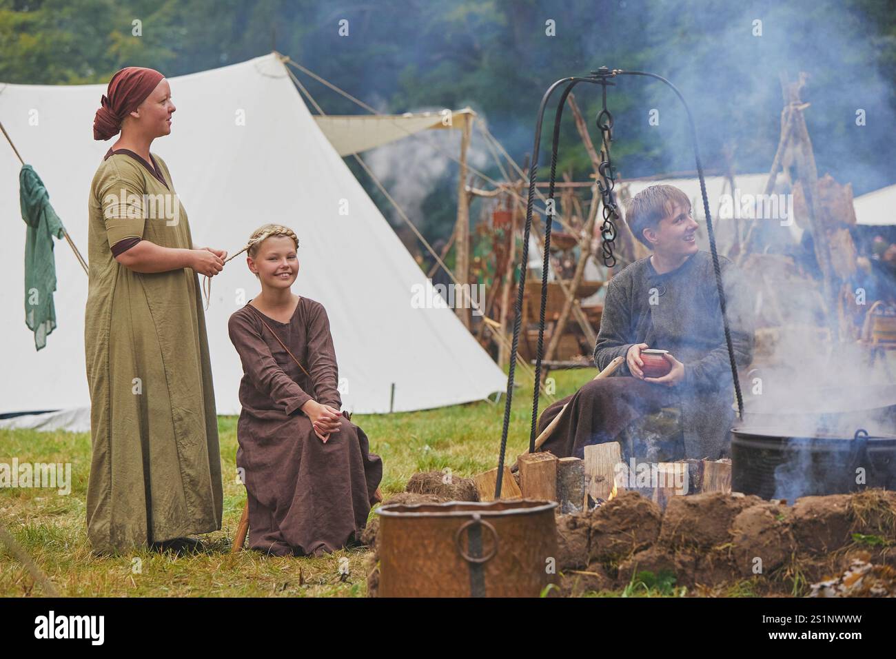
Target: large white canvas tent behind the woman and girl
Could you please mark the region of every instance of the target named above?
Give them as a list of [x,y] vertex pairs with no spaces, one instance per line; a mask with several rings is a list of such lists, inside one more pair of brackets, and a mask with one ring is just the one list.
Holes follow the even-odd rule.
[[[452,309],[412,307],[414,287],[426,285],[425,273],[315,124],[276,54],[169,82],[177,106],[172,133],[156,140],[152,151],[168,162],[195,246],[233,253],[265,222],[296,230],[301,246],[294,290],[327,308],[346,409],[420,410],[504,389],[504,373]],[[0,86],[0,118],[22,158],[43,178],[85,258],[90,180],[112,143],[92,138],[105,91],[105,85]],[[49,422],[47,416],[13,422],[84,429],[86,420],[89,428],[87,275],[68,245],[56,242],[58,326],[47,347],[35,351],[23,322],[20,163],[8,145],[3,148],[0,268],[12,313],[3,325],[0,413],[63,410]],[[215,398],[220,414],[237,414],[242,369],[227,322],[259,285],[239,256],[212,280],[211,290],[206,323]]]

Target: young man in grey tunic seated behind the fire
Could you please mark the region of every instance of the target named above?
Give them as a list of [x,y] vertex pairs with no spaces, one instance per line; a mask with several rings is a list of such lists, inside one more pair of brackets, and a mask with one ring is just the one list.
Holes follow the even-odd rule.
[[[617,440],[646,414],[677,408],[671,437],[627,447],[628,457],[657,461],[718,459],[728,455],[728,430],[735,419],[734,385],[719,309],[712,256],[696,242],[697,222],[687,196],[674,186],[650,186],[633,197],[626,220],[653,254],[629,264],[607,285],[594,361],[604,369],[616,357],[625,363],[615,377],[593,380],[550,405],[539,432],[569,403],[541,450],[582,457],[584,447]],[[719,256],[728,302],[728,323],[740,372],[753,356],[753,295],[748,283]],[[645,377],[641,352],[668,351],[668,375]],[[642,433],[643,435],[643,433]]]

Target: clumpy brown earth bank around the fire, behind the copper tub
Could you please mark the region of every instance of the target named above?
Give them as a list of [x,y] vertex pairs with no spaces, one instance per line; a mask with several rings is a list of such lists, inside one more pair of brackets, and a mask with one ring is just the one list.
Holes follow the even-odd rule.
[[[457,499],[456,490],[440,487],[441,473],[416,476],[413,487],[439,493],[402,492],[384,505]],[[379,580],[378,526],[375,516],[362,537],[374,548],[367,564],[372,597]],[[675,574],[677,586],[717,594],[744,579],[766,595],[793,594],[795,584],[823,579],[815,596],[896,594],[896,492],[885,490],[804,497],[793,507],[738,494],[697,494],[673,497],[665,514],[638,492],[625,491],[588,513],[557,515],[556,537],[560,590],[551,596],[620,589],[640,572],[658,576],[664,570]]]

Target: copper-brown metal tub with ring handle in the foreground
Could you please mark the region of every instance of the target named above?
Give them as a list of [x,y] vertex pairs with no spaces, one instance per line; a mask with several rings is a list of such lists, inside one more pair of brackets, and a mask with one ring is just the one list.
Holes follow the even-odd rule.
[[380,597],[538,597],[556,578],[555,501],[380,507]]

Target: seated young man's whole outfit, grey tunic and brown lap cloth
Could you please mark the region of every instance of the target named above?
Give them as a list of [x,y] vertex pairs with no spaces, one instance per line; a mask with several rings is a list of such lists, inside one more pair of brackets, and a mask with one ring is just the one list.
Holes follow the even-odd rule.
[[[734,264],[724,256],[719,261],[735,358],[744,369],[753,356],[754,294]],[[589,382],[542,412],[539,432],[570,402],[541,450],[582,457],[589,444],[616,441],[633,421],[670,407],[677,408],[678,431],[662,437],[638,428],[629,433],[629,446],[623,446],[625,457],[663,461],[727,456],[734,387],[711,255],[698,252],[664,274],[657,273],[647,257],[610,280],[595,366],[607,368],[635,343],[670,351],[685,365],[684,380],[674,387],[651,384],[631,377],[624,363],[616,376]]]

